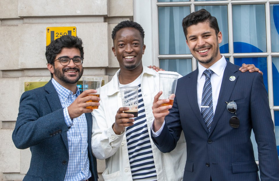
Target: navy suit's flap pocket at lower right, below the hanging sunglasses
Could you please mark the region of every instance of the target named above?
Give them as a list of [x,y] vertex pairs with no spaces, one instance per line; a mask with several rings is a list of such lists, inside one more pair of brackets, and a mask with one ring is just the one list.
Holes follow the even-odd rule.
[[259,171],[259,168],[255,161],[232,163],[232,173],[251,173],[257,171]]

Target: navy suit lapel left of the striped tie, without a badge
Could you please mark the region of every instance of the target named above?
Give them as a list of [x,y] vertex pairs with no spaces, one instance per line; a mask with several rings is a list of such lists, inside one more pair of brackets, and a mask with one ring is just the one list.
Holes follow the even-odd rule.
[[198,95],[197,95],[197,80],[198,80],[198,69],[196,69],[193,74],[189,75],[189,84],[186,85],[189,94],[188,98],[190,100],[190,106],[198,118],[198,121],[201,123],[203,128],[205,129],[206,132],[208,132],[208,128],[205,125],[203,116],[201,115],[200,108],[198,107]]

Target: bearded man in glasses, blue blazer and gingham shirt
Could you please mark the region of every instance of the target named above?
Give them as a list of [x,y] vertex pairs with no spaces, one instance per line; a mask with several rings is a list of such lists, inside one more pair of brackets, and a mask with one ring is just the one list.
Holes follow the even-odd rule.
[[46,48],[51,80],[22,94],[12,140],[18,149],[30,148],[32,157],[24,181],[97,180],[91,150],[92,109],[95,90],[79,91],[83,74],[82,41],[62,36]]

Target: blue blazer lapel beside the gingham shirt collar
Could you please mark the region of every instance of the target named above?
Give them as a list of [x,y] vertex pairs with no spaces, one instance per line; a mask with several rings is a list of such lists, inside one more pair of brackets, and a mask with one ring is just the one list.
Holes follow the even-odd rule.
[[[62,105],[61,105],[60,99],[58,97],[58,93],[56,92],[56,89],[54,88],[51,80],[45,85],[45,90],[47,91],[47,93],[49,93],[49,94],[46,95],[46,97],[47,97],[47,100],[49,102],[49,106],[51,108],[51,111],[54,112],[58,109],[61,109]],[[67,132],[62,133],[61,137],[62,137],[62,140],[63,140],[63,142],[66,146],[66,149],[69,153]]]

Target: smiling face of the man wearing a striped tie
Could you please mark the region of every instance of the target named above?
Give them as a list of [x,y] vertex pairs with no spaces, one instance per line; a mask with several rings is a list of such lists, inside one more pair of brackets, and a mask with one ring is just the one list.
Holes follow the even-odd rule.
[[219,32],[216,36],[215,30],[210,28],[208,22],[189,26],[186,42],[192,55],[205,68],[221,59],[219,43],[222,42],[222,34]]

